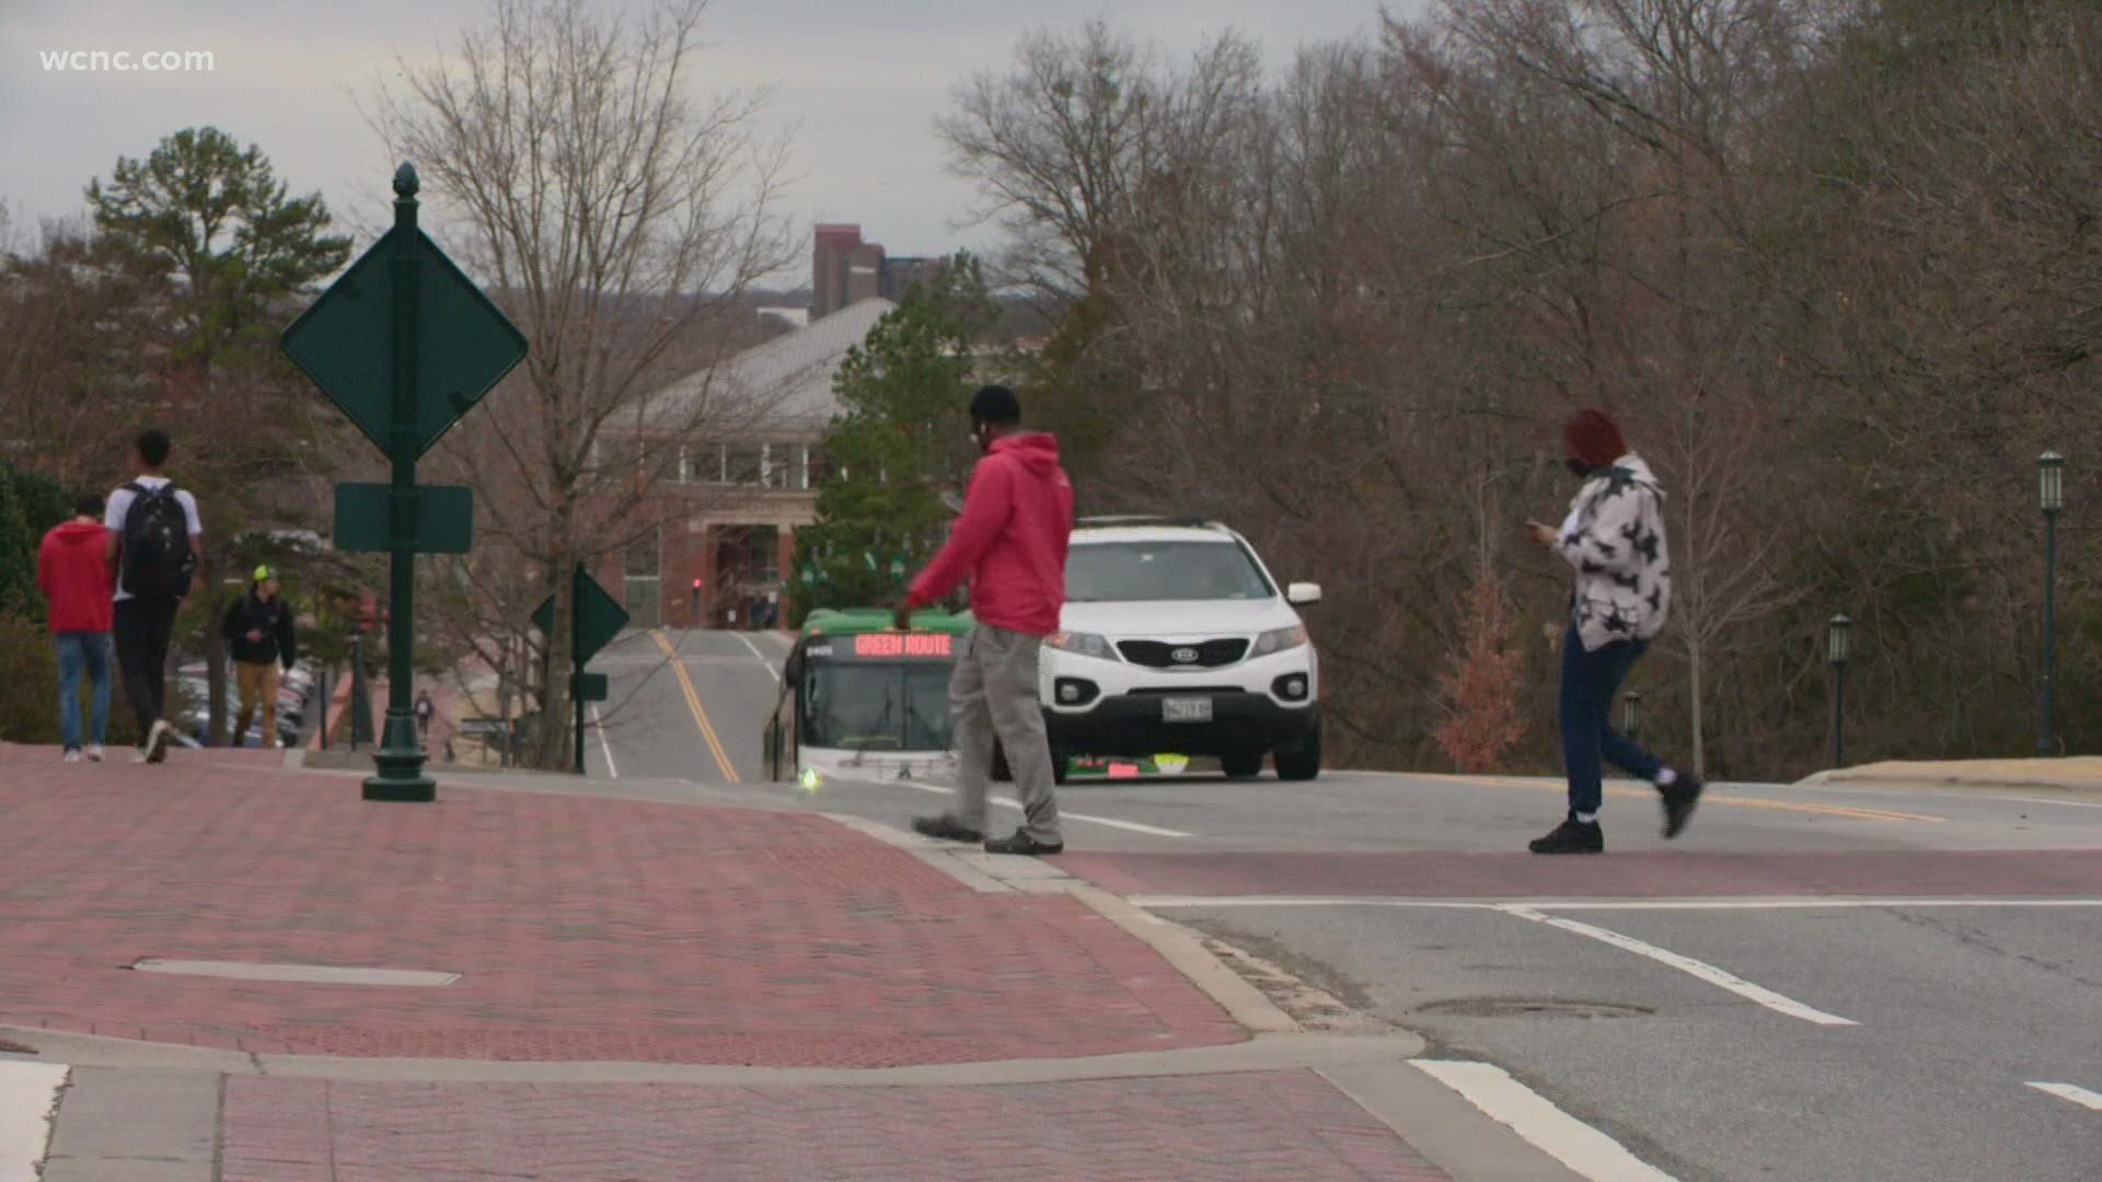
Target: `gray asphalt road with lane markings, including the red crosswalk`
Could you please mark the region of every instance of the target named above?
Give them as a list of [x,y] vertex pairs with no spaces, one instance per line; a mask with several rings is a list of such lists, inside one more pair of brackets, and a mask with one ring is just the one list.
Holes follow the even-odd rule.
[[[610,749],[620,776],[898,827],[942,808],[940,784],[761,782],[784,654],[624,637],[593,770]],[[1730,784],[1665,843],[1621,784],[1612,852],[1574,860],[1522,852],[1562,810],[1539,780],[1181,778],[1062,808],[1068,871],[1503,1066],[1673,1178],[2102,1178],[2102,797]]]

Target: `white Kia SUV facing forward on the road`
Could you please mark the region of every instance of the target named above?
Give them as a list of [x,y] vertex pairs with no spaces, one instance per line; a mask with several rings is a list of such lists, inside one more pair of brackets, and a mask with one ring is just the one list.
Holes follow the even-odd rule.
[[1320,663],[1246,538],[1215,522],[1087,517],[1066,557],[1062,631],[1038,694],[1053,766],[1068,755],[1217,755],[1228,776],[1320,774]]

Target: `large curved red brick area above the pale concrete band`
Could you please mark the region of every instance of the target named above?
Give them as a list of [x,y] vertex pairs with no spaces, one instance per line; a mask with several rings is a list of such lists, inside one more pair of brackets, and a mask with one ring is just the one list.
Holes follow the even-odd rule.
[[[881,1066],[1244,1037],[1068,896],[824,818],[0,747],[0,1022],[284,1054]],[[441,989],[137,957],[450,970]]]

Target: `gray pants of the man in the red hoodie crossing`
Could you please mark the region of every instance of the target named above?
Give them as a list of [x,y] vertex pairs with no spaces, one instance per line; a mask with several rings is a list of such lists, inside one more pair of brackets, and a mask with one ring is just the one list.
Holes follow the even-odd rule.
[[1051,740],[1036,702],[1036,660],[1045,641],[992,625],[977,625],[956,658],[948,684],[948,709],[956,719],[956,820],[986,831],[986,787],[992,778],[992,740],[1007,749],[1007,770],[1022,797],[1026,833],[1047,845],[1064,845],[1057,829],[1057,799],[1051,795]]

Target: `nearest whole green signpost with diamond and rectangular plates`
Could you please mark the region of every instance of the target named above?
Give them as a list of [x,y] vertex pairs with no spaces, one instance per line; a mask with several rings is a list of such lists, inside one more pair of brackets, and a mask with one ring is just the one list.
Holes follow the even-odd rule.
[[416,168],[395,170],[395,223],[280,337],[322,393],[393,463],[389,484],[336,486],[336,547],[389,553],[387,728],[368,801],[433,801],[416,732],[416,555],[467,553],[467,488],[418,486],[416,458],[526,358],[526,337],[420,229]]

